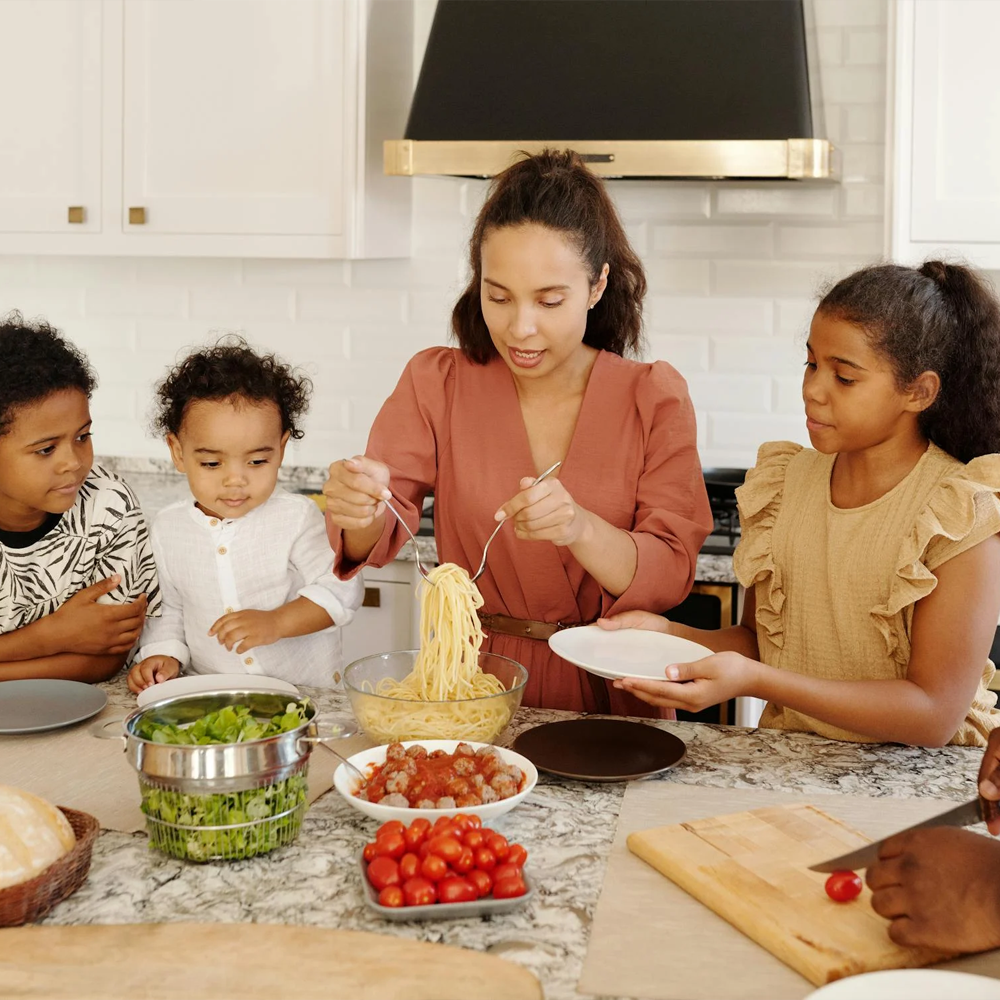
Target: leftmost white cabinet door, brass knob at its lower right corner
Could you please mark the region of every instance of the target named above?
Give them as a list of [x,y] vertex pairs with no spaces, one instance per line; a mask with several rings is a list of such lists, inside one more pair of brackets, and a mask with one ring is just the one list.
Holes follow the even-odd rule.
[[3,0],[0,38],[0,232],[98,231],[101,0]]

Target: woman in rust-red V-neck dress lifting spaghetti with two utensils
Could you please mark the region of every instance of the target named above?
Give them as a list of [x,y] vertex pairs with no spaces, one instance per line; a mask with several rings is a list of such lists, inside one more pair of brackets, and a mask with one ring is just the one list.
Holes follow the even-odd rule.
[[366,455],[330,466],[338,572],[381,566],[406,540],[389,496],[416,531],[433,490],[439,558],[472,572],[510,517],[478,581],[484,648],[528,668],[525,704],[648,715],[545,641],[599,614],[678,604],[711,529],[684,380],[626,359],[641,345],[642,265],[601,182],[551,151],[496,178],[469,262],[458,348],[413,358]]

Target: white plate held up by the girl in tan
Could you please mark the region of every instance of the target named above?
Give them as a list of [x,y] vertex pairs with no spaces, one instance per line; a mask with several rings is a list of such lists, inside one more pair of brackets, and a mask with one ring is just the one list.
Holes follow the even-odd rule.
[[705,646],[676,635],[638,628],[611,631],[600,625],[562,629],[549,639],[549,646],[564,660],[608,680],[649,677],[662,681],[664,668],[671,663],[712,655]]

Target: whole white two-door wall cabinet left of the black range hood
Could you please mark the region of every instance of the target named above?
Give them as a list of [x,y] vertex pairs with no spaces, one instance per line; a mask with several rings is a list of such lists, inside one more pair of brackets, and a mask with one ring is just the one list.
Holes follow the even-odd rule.
[[[27,169],[12,122],[0,139],[12,154],[0,157],[0,253],[409,254],[410,184],[383,175],[381,145],[405,125],[412,0],[0,3],[3,37],[26,34],[36,50],[53,20],[65,65],[47,76],[60,60],[37,60],[46,74],[22,74],[33,83],[19,88],[21,109],[0,110],[0,122],[35,123],[25,142],[39,164]],[[76,131],[50,127],[84,104]],[[58,149],[44,147],[50,132]],[[71,184],[72,170],[87,184]],[[4,213],[8,191],[19,225]],[[71,205],[86,234],[65,222]]]

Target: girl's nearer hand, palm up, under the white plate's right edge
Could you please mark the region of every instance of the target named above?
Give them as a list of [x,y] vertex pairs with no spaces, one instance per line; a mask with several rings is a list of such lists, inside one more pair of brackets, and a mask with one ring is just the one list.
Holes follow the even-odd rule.
[[742,653],[714,653],[691,663],[671,664],[665,671],[667,680],[625,677],[616,680],[615,687],[657,708],[700,712],[747,694],[759,666]]

